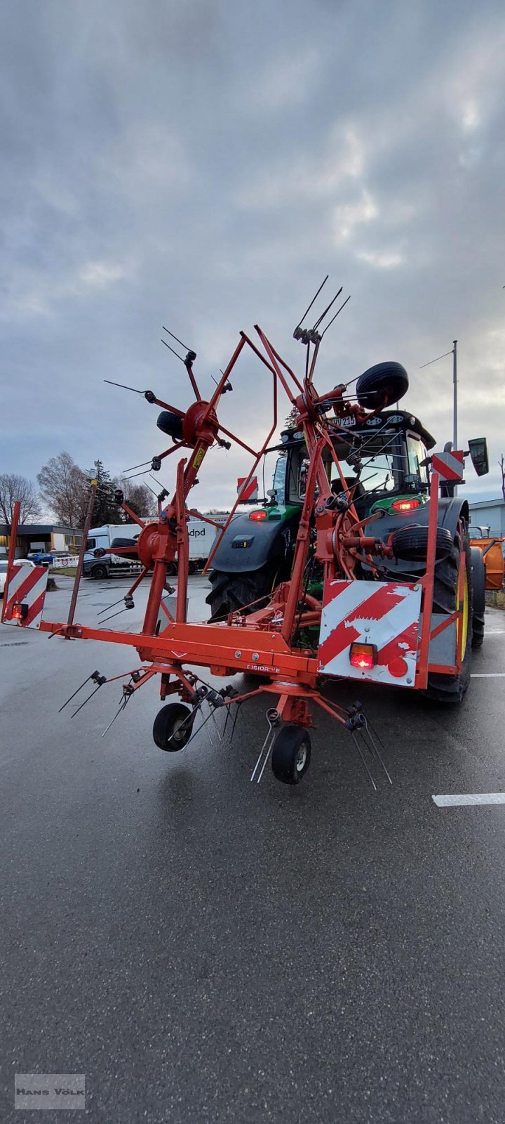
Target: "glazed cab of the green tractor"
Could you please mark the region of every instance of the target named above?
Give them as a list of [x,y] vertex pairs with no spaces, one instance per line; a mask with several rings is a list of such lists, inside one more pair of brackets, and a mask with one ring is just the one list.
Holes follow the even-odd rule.
[[[360,518],[374,507],[408,511],[424,506],[429,490],[428,453],[435,441],[421,422],[398,410],[384,410],[361,426],[354,418],[345,420],[347,425],[340,422],[333,435],[345,482],[330,451],[323,453],[331,490],[338,495],[354,489],[354,504]],[[285,429],[281,438],[272,502],[302,505],[309,469],[303,434]]]

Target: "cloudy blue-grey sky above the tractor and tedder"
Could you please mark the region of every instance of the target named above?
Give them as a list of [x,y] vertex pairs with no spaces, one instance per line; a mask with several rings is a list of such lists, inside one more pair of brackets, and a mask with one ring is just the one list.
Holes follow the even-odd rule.
[[[320,389],[398,360],[443,446],[451,357],[420,368],[457,337],[460,444],[487,435],[492,462],[467,492],[499,495],[499,0],[6,0],[0,20],[0,471],[159,453],[157,408],[103,379],[189,405],[162,324],[206,393],[257,321],[300,365],[293,328],[329,273],[351,300]],[[258,368],[222,404],[251,442],[269,419]],[[247,470],[212,451],[200,506],[229,504]]]

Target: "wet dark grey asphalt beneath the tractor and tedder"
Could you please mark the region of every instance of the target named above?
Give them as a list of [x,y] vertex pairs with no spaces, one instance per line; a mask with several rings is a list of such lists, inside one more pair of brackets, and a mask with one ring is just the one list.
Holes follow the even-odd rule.
[[[123,591],[84,583],[76,618]],[[487,628],[474,671],[505,672],[505,614]],[[256,786],[261,700],[171,756],[155,682],[103,740],[117,687],[57,714],[127,650],[3,626],[0,663],[2,1121],[16,1071],[85,1073],[100,1122],[505,1121],[505,806],[431,799],[505,788],[504,679],[456,710],[362,690],[375,794],[322,714],[304,782]]]

